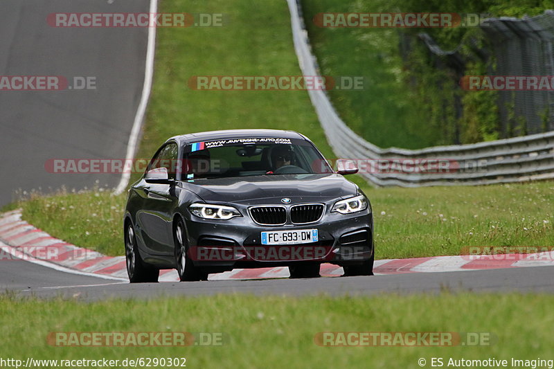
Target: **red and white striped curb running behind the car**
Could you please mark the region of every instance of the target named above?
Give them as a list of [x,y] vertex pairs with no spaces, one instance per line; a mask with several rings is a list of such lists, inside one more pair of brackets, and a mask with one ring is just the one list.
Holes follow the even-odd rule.
[[[123,246],[122,246],[123,248]],[[106,256],[97,251],[58,240],[48,233],[21,220],[21,210],[0,215],[0,262],[24,259],[46,267],[71,273],[88,274],[102,278],[127,280],[124,256]],[[472,271],[517,267],[554,266],[554,251],[528,255],[435,256],[375,260],[375,274],[431,273],[444,271]],[[341,276],[343,269],[332,264],[321,265],[321,276]],[[287,278],[286,267],[234,269],[211,274],[208,280],[240,280],[262,278]],[[175,269],[160,272],[160,281],[178,280]]]

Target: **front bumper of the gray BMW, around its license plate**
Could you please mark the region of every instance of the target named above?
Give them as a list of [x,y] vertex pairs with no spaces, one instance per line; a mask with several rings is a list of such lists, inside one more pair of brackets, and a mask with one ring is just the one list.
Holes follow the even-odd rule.
[[[248,216],[208,220],[186,219],[189,257],[198,267],[213,270],[286,267],[330,262],[361,264],[373,258],[373,215],[369,210],[342,215],[325,213],[310,224],[260,226]],[[318,241],[309,244],[262,245],[264,231],[317,229]]]

